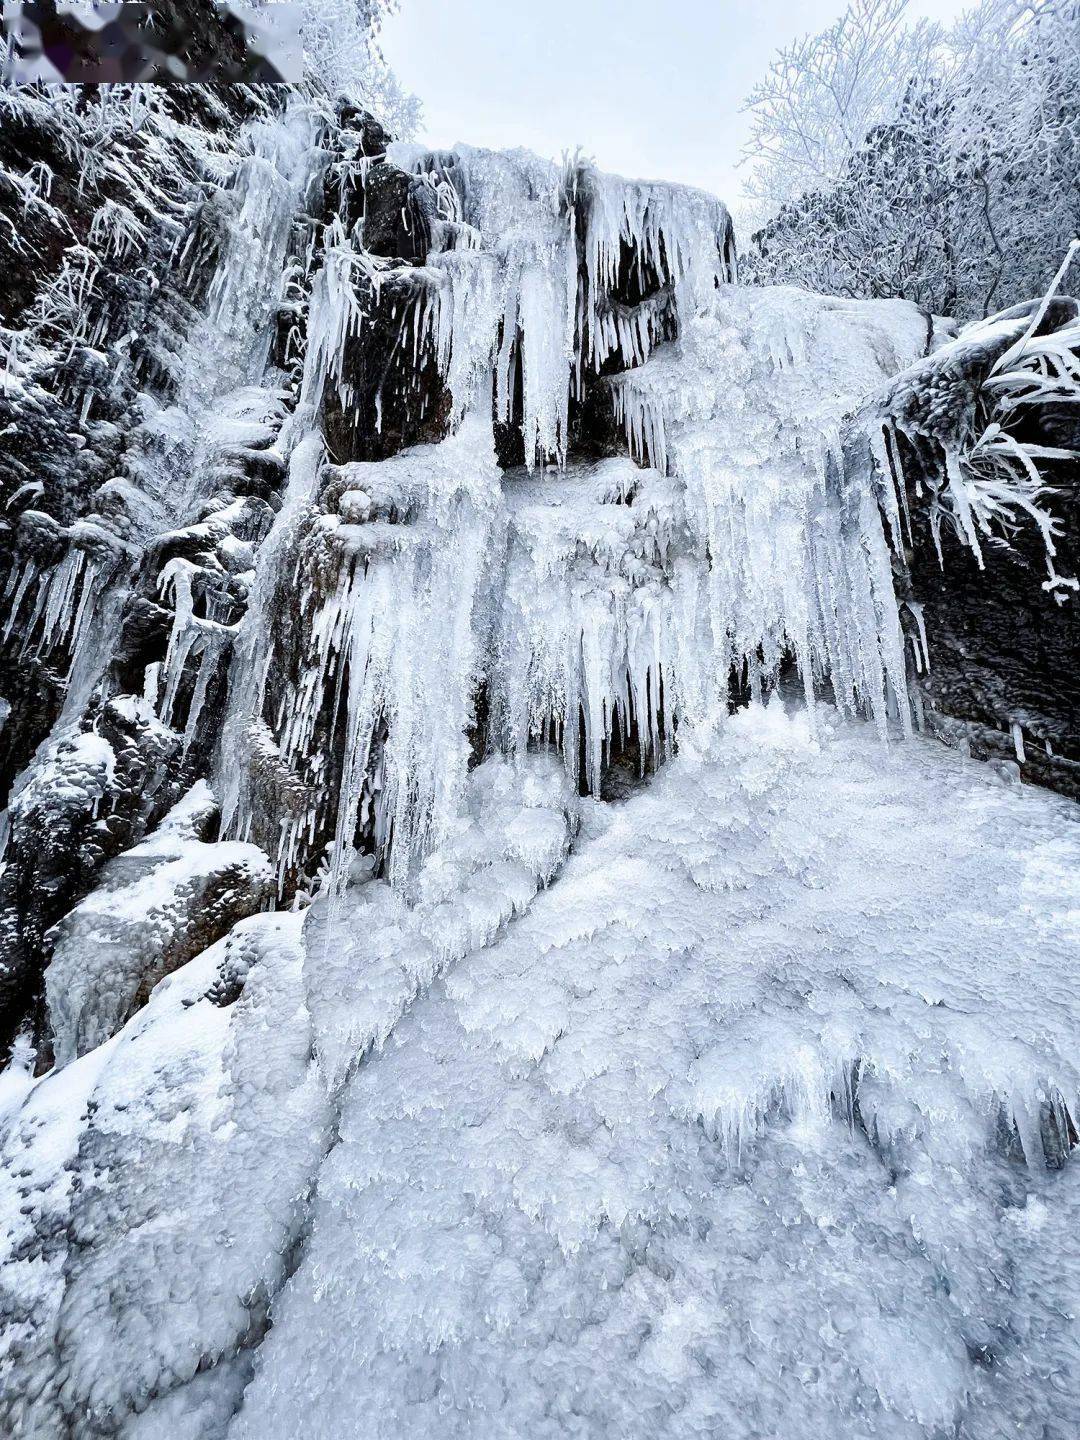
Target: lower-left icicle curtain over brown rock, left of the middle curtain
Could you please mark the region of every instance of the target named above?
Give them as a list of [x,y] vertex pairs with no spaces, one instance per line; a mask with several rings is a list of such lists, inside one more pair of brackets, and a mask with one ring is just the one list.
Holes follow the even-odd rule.
[[[302,497],[320,481],[333,508],[315,514]],[[300,678],[269,700],[271,628],[256,600],[248,644],[238,652],[242,677],[226,720],[220,782],[226,825],[246,838],[259,812],[255,750],[269,752],[291,778],[295,802],[269,841],[282,873],[327,811],[336,888],[361,821],[374,824],[382,851],[393,838],[390,870],[402,881],[449,835],[468,770],[480,661],[474,602],[498,482],[491,423],[478,419],[442,445],[380,464],[324,468],[315,441],[295,451],[281,531],[269,544],[276,553],[278,543],[285,549],[295,541],[288,595],[289,603],[298,598],[308,622]],[[279,576],[269,572],[266,580],[274,586]],[[264,720],[268,703],[275,707],[271,729]],[[344,721],[337,786],[315,742],[327,703],[330,723]],[[386,743],[372,775],[380,729]],[[248,753],[246,780],[235,746]]]

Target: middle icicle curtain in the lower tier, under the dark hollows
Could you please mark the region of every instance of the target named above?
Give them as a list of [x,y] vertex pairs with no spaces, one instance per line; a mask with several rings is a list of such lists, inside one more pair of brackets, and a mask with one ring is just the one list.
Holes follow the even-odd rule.
[[[697,678],[698,566],[678,487],[629,459],[505,484],[507,563],[492,600],[490,704],[511,755],[557,743],[600,793],[612,736],[658,760],[677,685]],[[667,690],[665,690],[667,687]],[[681,694],[681,690],[678,691]],[[583,775],[579,763],[583,755]]]

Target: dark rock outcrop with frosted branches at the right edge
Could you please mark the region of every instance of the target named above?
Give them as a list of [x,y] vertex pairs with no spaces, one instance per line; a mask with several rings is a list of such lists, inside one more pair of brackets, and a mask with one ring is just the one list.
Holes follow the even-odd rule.
[[[1038,315],[1034,310],[1018,305],[985,330],[966,331],[927,359],[922,379],[896,383],[886,410],[912,516],[899,588],[922,608],[930,664],[916,687],[930,730],[979,757],[1018,765],[1025,780],[1080,798],[1080,459],[1061,458],[1080,455],[1080,420],[1074,406],[1053,400],[1011,405],[1008,387],[1002,402],[995,377],[1030,325],[1032,344],[1071,334],[1080,307],[1057,297]],[[1014,446],[1005,456],[1011,514],[985,530],[968,518],[979,562],[943,477],[952,465],[976,490],[1007,478],[999,462],[995,468],[978,455],[981,438],[995,432]],[[1008,498],[1024,485],[1022,504]],[[1051,528],[1050,554],[1041,524]]]

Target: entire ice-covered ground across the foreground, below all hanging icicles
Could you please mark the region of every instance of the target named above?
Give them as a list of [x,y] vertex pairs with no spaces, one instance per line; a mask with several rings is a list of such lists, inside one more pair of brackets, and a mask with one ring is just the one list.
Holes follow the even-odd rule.
[[36,1086],[26,1418],[220,1436],[253,1358],[232,1440],[1076,1434],[1077,808],[773,700],[530,904],[560,773],[478,772],[428,942],[357,873]]

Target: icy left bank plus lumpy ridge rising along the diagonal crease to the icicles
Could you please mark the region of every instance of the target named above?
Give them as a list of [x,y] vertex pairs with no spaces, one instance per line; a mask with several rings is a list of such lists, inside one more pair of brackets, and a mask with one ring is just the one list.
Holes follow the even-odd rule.
[[[422,988],[523,913],[566,857],[577,802],[557,760],[490,760],[467,799],[412,904],[359,860],[343,896],[240,920],[120,1034],[9,1087],[6,1433],[223,1434],[298,1260],[346,1081]],[[190,834],[207,812],[200,786],[150,848],[166,837],[196,855],[220,848]]]

